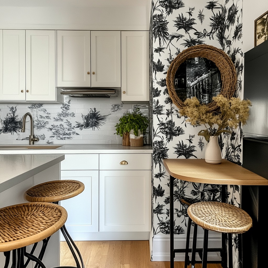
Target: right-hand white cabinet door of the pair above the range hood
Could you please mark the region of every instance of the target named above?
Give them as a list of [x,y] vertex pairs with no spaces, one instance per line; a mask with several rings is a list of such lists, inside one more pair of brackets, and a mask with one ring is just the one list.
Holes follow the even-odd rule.
[[120,31],[91,31],[91,87],[121,87]]

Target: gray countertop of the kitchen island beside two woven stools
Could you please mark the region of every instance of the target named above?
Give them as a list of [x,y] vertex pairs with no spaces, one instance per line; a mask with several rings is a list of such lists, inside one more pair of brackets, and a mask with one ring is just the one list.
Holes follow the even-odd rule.
[[0,155],[0,192],[64,160],[62,154]]

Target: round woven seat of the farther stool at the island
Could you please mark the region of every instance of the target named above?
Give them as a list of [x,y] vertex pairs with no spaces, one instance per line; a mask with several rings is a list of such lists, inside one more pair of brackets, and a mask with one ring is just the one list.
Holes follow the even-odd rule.
[[29,202],[58,202],[78,195],[84,188],[81,181],[47,181],[28,189],[25,192],[25,199]]

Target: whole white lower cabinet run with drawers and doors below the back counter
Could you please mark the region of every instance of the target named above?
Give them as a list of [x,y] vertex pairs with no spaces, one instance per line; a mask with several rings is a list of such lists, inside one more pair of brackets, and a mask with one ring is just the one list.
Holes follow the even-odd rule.
[[61,180],[85,185],[82,193],[61,201],[74,241],[148,240],[151,154],[66,154]]

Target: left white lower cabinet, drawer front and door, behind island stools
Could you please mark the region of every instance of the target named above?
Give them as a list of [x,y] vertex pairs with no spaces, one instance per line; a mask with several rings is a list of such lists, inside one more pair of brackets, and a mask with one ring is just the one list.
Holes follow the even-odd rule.
[[99,154],[66,154],[61,162],[61,180],[85,185],[83,192],[60,204],[67,210],[65,226],[72,239],[90,240],[90,233],[99,231]]

